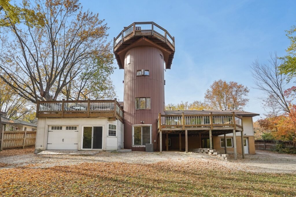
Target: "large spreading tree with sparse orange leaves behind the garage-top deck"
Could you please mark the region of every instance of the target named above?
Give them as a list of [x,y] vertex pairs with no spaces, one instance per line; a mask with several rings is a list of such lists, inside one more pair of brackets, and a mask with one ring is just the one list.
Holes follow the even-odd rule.
[[34,0],[29,5],[44,14],[45,25],[11,21],[0,35],[0,77],[21,97],[56,100],[93,59],[113,58],[107,24],[98,14],[83,12],[78,0]]

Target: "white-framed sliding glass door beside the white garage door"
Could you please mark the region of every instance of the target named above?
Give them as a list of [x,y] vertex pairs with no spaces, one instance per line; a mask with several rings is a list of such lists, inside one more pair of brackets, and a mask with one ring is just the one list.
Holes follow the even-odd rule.
[[103,148],[103,127],[83,127],[82,149]]

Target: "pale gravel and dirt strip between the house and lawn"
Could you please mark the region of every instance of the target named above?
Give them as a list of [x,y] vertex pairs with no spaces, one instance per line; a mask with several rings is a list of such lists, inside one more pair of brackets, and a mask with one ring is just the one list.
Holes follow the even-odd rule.
[[255,155],[246,155],[245,159],[239,156],[228,161],[205,153],[185,152],[99,152],[92,156],[81,155],[36,155],[33,148],[8,149],[0,152],[0,168],[13,167],[53,167],[75,165],[84,162],[124,162],[132,164],[151,164],[163,161],[186,162],[191,159],[212,162],[215,165],[227,167],[229,170],[269,173],[296,173],[296,155],[279,154],[269,151],[257,151]]

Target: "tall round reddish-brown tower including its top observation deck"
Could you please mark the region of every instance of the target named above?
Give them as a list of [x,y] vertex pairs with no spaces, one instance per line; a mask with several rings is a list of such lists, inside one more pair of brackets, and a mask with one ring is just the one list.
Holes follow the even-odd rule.
[[124,69],[124,148],[157,149],[157,118],[164,114],[164,71],[170,69],[175,39],[154,22],[134,22],[114,38],[114,54]]

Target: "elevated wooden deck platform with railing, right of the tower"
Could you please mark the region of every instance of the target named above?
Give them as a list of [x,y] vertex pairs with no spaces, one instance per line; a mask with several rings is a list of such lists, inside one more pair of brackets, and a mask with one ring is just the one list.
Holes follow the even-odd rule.
[[242,117],[234,112],[209,114],[161,115],[159,114],[158,131],[163,133],[178,133],[187,130],[188,133],[204,133],[211,130],[213,136],[232,133],[233,130],[243,131]]

